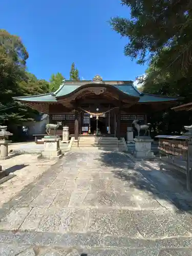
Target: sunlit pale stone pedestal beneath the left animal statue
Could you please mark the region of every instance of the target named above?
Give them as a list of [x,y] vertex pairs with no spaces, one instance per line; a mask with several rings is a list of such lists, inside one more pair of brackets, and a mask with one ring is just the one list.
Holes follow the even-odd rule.
[[44,136],[44,151],[42,151],[42,157],[60,157],[60,140],[59,136]]

